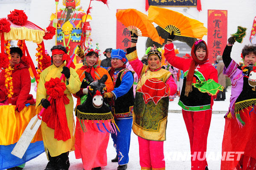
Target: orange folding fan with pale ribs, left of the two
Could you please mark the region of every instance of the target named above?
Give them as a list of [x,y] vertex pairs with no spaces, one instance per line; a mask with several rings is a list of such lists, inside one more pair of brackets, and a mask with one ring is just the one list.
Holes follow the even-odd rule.
[[129,31],[136,32],[138,36],[150,37],[153,41],[163,44],[164,39],[159,37],[157,29],[148,20],[148,16],[136,9],[122,9],[116,13],[119,20]]

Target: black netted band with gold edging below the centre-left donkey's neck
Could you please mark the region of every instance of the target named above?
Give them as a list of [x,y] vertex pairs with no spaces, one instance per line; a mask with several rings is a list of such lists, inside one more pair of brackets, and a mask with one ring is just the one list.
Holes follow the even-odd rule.
[[79,118],[80,120],[97,120],[97,121],[113,119],[113,115],[111,112],[108,112],[108,113],[84,113],[84,112],[80,112],[77,109],[76,109],[76,117]]

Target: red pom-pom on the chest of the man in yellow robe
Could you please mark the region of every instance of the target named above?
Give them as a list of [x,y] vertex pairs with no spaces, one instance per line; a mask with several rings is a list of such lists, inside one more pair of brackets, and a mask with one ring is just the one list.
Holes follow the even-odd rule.
[[51,78],[44,84],[47,95],[53,99],[61,98],[64,95],[66,89],[65,83],[61,82],[60,78]]

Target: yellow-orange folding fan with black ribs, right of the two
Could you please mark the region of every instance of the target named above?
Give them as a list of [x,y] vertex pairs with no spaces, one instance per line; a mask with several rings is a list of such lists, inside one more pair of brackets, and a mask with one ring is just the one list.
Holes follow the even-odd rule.
[[174,31],[174,35],[198,39],[207,35],[207,28],[204,27],[204,23],[169,9],[150,6],[148,20],[156,23],[170,34]]

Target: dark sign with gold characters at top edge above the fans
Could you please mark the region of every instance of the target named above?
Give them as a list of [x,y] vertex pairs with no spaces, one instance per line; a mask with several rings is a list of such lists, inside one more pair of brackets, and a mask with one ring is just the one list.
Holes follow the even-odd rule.
[[149,6],[197,6],[197,0],[148,0]]

